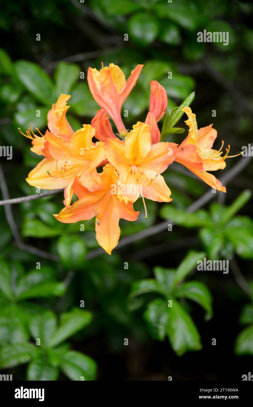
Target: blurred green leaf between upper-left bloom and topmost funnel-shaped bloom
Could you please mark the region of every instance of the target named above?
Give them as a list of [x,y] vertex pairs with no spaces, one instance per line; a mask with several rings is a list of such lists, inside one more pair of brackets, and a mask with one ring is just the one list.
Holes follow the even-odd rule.
[[94,101],[87,83],[78,83],[71,92],[70,109],[78,116],[95,116],[100,107]]

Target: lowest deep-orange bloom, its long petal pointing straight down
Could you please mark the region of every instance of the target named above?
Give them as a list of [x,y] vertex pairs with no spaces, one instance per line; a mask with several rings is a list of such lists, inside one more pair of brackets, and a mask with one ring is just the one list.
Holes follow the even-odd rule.
[[56,219],[63,223],[73,223],[96,217],[96,239],[108,254],[117,246],[120,238],[119,220],[135,221],[139,212],[133,210],[133,204],[120,202],[112,192],[112,185],[117,185],[118,174],[111,164],[98,174],[102,187],[94,192],[74,181],[74,193],[79,198],[70,208],[63,208]]

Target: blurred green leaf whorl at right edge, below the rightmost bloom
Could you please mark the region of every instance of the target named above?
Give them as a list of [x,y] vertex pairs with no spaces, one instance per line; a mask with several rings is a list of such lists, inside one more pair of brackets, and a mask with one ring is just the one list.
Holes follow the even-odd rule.
[[198,210],[187,213],[166,205],[161,208],[161,217],[170,219],[184,228],[199,228],[199,237],[210,259],[218,256],[229,257],[233,252],[238,256],[253,258],[253,222],[249,217],[235,216],[249,201],[251,191],[242,192],[231,206],[214,202],[209,212]]

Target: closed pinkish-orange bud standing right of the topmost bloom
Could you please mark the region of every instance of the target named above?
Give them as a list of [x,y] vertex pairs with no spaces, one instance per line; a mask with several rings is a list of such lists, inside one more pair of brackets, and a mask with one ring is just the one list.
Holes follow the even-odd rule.
[[167,93],[164,87],[157,81],[150,82],[150,90],[149,111],[150,113],[153,113],[155,120],[159,122],[167,110]]

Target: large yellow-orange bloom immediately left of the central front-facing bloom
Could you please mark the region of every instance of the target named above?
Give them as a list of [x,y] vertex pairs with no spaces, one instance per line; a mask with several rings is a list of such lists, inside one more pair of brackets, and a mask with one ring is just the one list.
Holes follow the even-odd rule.
[[45,135],[50,159],[42,160],[28,175],[28,184],[42,189],[65,188],[65,205],[69,206],[75,177],[88,190],[94,191],[101,186],[96,167],[105,160],[103,142],[92,142],[95,129],[83,125],[66,140],[49,131]]

